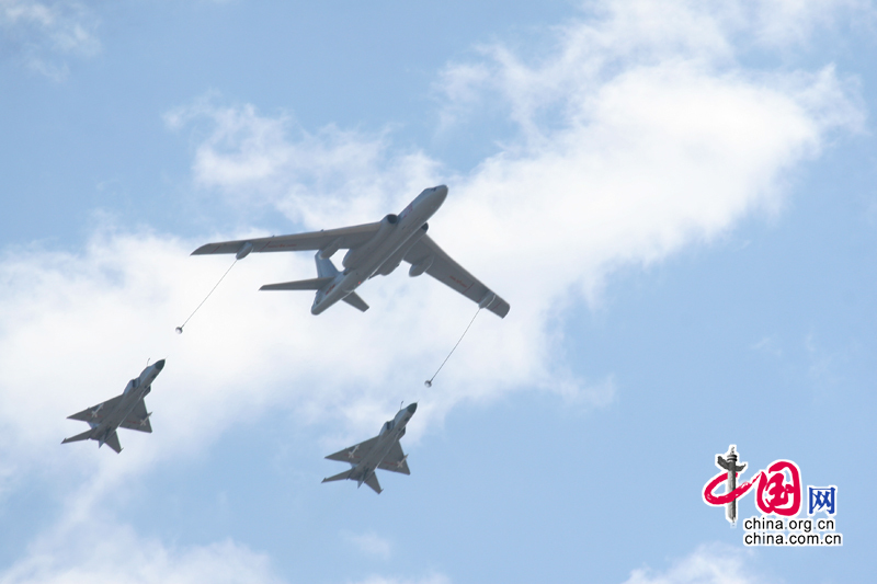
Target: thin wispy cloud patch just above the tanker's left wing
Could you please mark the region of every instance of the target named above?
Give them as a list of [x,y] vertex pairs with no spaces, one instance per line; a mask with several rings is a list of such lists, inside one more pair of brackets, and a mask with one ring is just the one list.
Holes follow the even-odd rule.
[[272,205],[295,221],[323,227],[386,214],[387,205],[402,204],[437,176],[438,163],[422,152],[391,152],[388,133],[327,126],[315,134],[288,114],[269,117],[251,104],[219,101],[209,93],[169,112],[166,122],[174,129],[195,125],[198,136],[206,131],[194,152],[194,183],[226,193],[240,208]]

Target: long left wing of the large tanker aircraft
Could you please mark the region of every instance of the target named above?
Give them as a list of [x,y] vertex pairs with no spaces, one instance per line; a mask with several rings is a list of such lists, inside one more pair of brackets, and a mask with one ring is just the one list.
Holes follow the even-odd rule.
[[[192,252],[192,255],[208,255],[214,253],[238,253],[246,243],[252,243],[253,252],[270,251],[308,251],[322,250],[334,245],[338,249],[349,250],[362,245],[377,233],[380,222],[341,227],[311,231],[310,233],[295,233],[271,238],[241,239],[238,241],[220,241],[207,243]],[[340,240],[340,241],[339,241]]]

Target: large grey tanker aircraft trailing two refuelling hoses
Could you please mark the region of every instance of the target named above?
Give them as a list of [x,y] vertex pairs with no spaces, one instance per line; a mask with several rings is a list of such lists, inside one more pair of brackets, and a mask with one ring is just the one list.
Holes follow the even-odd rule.
[[[425,188],[399,215],[389,214],[380,221],[260,239],[223,241],[202,245],[192,255],[235,253],[242,260],[251,252],[317,250],[317,277],[262,286],[262,290],[316,290],[310,308],[319,314],[339,300],[365,312],[368,305],[354,291],[366,279],[389,275],[402,261],[411,264],[412,277],[424,272],[457,290],[481,308],[504,318],[509,302],[478,278],[466,272],[426,234],[426,220],[447,197],[447,186]],[[330,257],[340,249],[349,250],[339,272]]]

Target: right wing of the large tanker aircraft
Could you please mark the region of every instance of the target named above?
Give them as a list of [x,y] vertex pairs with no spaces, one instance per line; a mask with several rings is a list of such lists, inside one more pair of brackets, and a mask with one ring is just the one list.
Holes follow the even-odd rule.
[[483,308],[500,318],[505,318],[505,314],[509,313],[509,302],[466,272],[430,236],[423,236],[405,255],[403,260],[412,265],[429,263],[426,273],[445,286],[457,290],[466,298],[478,304],[487,302]]

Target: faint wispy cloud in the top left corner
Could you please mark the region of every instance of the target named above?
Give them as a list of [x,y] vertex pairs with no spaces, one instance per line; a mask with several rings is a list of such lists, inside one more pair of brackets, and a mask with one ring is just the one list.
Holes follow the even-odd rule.
[[101,48],[98,19],[83,3],[0,0],[0,33],[33,70],[52,79],[67,76],[65,57],[89,57]]

